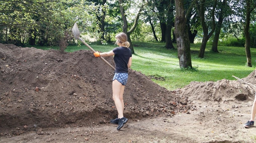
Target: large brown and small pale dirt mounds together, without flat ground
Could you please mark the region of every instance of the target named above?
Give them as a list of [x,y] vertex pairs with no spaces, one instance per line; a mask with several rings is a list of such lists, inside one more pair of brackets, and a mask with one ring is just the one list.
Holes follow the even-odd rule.
[[[0,43],[0,136],[16,136],[47,127],[108,124],[116,118],[113,69],[93,52],[63,54]],[[114,66],[113,57],[105,59]],[[243,80],[255,84],[255,71]],[[129,69],[124,115],[132,121],[172,117],[197,110],[194,101],[253,100],[254,89],[236,80],[191,82],[174,91]]]

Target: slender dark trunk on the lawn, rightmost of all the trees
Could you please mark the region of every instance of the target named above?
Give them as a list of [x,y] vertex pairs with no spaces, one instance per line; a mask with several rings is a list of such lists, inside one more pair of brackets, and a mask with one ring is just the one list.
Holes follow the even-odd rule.
[[247,58],[247,66],[252,67],[251,65],[251,37],[249,33],[249,26],[250,26],[250,16],[251,11],[254,10],[255,4],[253,7],[251,7],[250,0],[246,0],[246,19],[245,19],[245,27],[244,27],[244,34],[245,34],[245,53]]

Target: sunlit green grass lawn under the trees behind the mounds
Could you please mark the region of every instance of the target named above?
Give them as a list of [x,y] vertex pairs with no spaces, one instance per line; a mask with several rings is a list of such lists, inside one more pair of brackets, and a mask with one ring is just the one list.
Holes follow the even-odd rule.
[[[106,52],[117,47],[114,44],[89,44],[95,51]],[[132,69],[151,77],[154,82],[168,90],[175,90],[188,85],[191,81],[217,81],[221,79],[236,80],[232,75],[243,78],[248,76],[256,66],[256,48],[251,48],[253,67],[246,66],[245,48],[218,46],[219,53],[211,52],[211,45],[206,46],[204,58],[198,58],[200,44],[191,44],[192,66],[196,70],[184,70],[179,67],[176,45],[175,49],[164,48],[165,43],[133,42]],[[44,50],[50,48],[36,47]],[[57,49],[58,47],[51,47]],[[86,49],[85,45],[68,46],[66,51],[73,52]],[[100,61],[103,62],[103,61]],[[107,65],[106,65],[107,66]],[[114,65],[113,65],[114,66]]]

